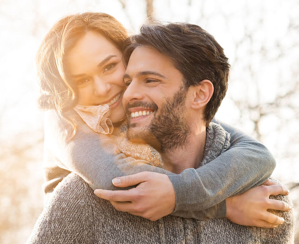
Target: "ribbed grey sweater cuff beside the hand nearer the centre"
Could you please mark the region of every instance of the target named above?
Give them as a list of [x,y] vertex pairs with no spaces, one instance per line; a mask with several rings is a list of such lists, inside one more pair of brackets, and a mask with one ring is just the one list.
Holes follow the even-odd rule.
[[187,204],[187,188],[180,174],[168,175],[168,177],[173,185],[175,192],[176,206],[173,211],[174,213],[176,211],[182,210],[180,208]]

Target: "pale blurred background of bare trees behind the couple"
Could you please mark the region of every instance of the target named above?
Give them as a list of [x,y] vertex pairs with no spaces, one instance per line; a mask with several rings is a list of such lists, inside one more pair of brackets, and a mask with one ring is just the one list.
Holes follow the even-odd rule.
[[194,23],[214,35],[231,63],[216,117],[272,151],[273,176],[291,191],[299,229],[297,0],[0,0],[0,243],[25,243],[42,211],[35,55],[55,21],[78,12],[109,13],[132,33],[154,18]]

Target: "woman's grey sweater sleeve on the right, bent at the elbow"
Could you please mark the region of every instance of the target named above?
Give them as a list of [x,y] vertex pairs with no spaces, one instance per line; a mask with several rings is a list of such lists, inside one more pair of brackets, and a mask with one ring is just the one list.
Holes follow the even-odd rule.
[[[194,218],[196,212],[190,211],[197,209],[215,218],[225,217],[225,199],[262,184],[276,166],[273,155],[259,141],[227,124],[213,122],[230,133],[230,148],[200,168],[169,175],[176,192],[174,214],[187,211]],[[209,214],[204,215],[210,218]]]

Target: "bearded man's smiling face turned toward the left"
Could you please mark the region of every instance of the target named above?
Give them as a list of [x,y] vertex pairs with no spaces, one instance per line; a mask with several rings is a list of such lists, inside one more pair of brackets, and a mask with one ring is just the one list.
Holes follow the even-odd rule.
[[128,138],[161,150],[183,145],[190,129],[182,73],[154,48],[138,47],[131,54],[124,81]]

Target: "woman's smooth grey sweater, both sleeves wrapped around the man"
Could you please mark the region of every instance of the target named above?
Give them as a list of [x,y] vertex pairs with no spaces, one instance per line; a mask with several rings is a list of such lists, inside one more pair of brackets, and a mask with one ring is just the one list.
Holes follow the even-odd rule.
[[[143,171],[166,174],[173,183],[176,194],[177,206],[173,215],[180,217],[224,217],[225,198],[260,184],[271,174],[268,169],[272,162],[270,159],[273,160],[271,154],[263,145],[239,131],[229,131],[232,146],[227,152],[230,153],[225,152],[218,160],[213,160],[197,170],[190,168],[181,174],[174,174],[154,167],[147,161],[126,157],[119,152],[112,139],[95,133],[79,120],[76,135],[72,140],[67,140],[68,133],[65,128],[68,124],[59,120],[55,112],[47,113],[45,143],[58,159],[59,167],[77,173],[93,189],[108,190],[120,190],[112,184],[115,177]],[[234,182],[230,182],[231,176],[234,176]]]

